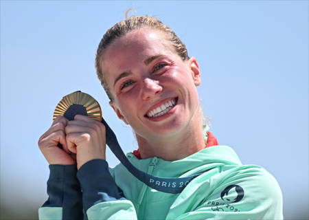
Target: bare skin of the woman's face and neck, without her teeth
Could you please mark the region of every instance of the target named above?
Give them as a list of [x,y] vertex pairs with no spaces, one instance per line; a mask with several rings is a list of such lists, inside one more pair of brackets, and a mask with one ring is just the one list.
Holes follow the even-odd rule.
[[[135,131],[141,157],[175,160],[205,147],[196,91],[201,73],[194,57],[182,61],[163,39],[161,33],[146,29],[126,34],[108,47],[102,70],[113,96],[111,107]],[[147,63],[150,57],[155,58]],[[146,116],[175,99],[166,115]]]

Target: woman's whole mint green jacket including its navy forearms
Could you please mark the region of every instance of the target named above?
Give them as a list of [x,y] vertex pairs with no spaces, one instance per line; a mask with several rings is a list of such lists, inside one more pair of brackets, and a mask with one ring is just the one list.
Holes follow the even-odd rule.
[[[78,170],[78,178],[71,175],[71,180],[65,168],[56,165],[60,169],[51,169],[51,176],[54,173],[61,184],[54,186],[57,183],[53,185],[51,179],[55,177],[49,177],[49,200],[39,209],[40,219],[82,219],[82,209],[88,219],[283,219],[282,192],[275,178],[260,166],[242,165],[229,146],[211,146],[174,162],[137,159],[133,153],[127,157],[140,170],[159,177],[187,177],[211,170],[175,195],[149,188],[122,164],[97,177],[98,170],[108,170],[108,165],[94,160]],[[55,188],[60,194],[56,200]],[[74,193],[77,199],[72,199]]]

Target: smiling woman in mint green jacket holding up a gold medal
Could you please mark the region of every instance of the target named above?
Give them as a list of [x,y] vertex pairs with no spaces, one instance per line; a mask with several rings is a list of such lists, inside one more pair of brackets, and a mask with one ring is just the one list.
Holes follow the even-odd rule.
[[277,181],[242,165],[203,126],[198,63],[170,28],[147,16],[120,21],[100,42],[96,69],[109,104],[135,131],[130,162],[165,177],[159,186],[198,177],[180,193],[154,190],[122,164],[108,168],[102,123],[59,116],[38,142],[51,170],[40,219],[283,219]]

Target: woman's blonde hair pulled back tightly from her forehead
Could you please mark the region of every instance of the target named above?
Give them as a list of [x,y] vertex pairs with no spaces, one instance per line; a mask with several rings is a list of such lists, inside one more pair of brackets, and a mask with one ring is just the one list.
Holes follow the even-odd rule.
[[158,30],[165,34],[166,40],[170,42],[174,52],[176,52],[176,54],[178,54],[183,59],[183,61],[186,61],[189,58],[185,44],[181,42],[181,39],[179,39],[174,31],[171,30],[167,25],[163,24],[155,17],[148,17],[147,15],[133,16],[128,18],[128,12],[130,10],[131,9],[126,12],[126,20],[119,21],[113,25],[112,28],[107,30],[98,45],[97,54],[95,56],[95,69],[97,71],[98,78],[101,81],[101,84],[111,101],[113,101],[113,97],[106,83],[104,72],[102,72],[102,56],[104,56],[104,52],[106,52],[109,45],[117,41],[117,39],[120,39],[122,36],[125,36],[129,32],[140,28]]

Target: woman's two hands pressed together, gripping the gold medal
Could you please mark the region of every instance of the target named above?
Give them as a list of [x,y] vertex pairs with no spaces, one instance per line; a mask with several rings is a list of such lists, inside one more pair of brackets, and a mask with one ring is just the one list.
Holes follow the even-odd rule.
[[[105,159],[105,126],[84,115],[74,120],[58,116],[38,140],[38,146],[49,164],[78,164],[91,159]],[[62,149],[58,144],[62,144]]]

